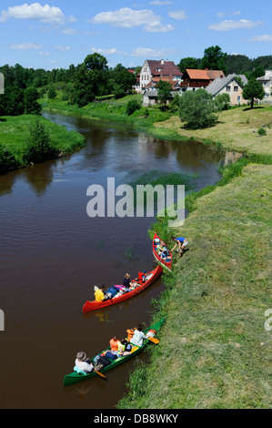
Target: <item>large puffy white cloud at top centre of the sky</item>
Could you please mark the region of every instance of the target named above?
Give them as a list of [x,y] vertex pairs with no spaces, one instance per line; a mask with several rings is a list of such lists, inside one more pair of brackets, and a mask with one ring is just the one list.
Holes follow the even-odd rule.
[[155,15],[152,10],[133,10],[129,7],[123,7],[115,12],[101,12],[94,16],[90,22],[93,24],[107,24],[123,28],[143,26],[149,33],[166,33],[174,29],[170,24],[163,25],[161,20],[161,16]]

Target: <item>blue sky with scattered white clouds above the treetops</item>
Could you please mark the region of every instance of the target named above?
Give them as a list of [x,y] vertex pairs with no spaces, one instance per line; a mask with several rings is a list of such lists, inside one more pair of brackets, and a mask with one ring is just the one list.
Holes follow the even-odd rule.
[[68,68],[88,54],[108,66],[201,58],[209,46],[272,55],[271,0],[1,0],[0,65]]

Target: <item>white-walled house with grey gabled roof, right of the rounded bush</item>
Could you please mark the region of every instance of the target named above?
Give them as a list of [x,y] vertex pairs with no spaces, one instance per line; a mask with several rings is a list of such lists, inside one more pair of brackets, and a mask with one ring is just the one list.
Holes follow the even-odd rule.
[[243,98],[243,88],[233,75],[217,77],[206,87],[206,90],[213,97],[217,97],[219,94],[228,94],[232,105],[247,104],[247,100]]

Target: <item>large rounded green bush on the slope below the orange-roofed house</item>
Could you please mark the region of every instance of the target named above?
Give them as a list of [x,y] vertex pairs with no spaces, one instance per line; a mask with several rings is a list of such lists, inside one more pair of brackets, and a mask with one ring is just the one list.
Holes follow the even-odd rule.
[[187,90],[179,100],[178,114],[190,129],[211,127],[217,120],[216,103],[205,89]]

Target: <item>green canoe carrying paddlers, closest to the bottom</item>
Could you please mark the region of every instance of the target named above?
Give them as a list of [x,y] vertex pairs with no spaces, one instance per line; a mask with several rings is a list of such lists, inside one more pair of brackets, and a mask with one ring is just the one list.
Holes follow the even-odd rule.
[[[157,321],[155,324],[151,325],[148,329],[143,330],[144,333],[147,333],[147,331],[149,331],[151,329],[159,331],[160,328],[162,327],[164,321],[165,321],[165,319]],[[128,355],[125,355],[124,357],[117,358],[114,362],[111,362],[111,364],[104,367],[100,372],[101,373],[107,372],[108,370],[114,369],[117,365],[119,365],[123,362],[127,362],[127,360],[134,357],[137,353],[142,352],[149,343],[152,343],[152,341],[150,341],[149,339],[145,339],[143,346],[133,345],[132,352],[130,352]],[[109,350],[110,350],[110,348],[107,348],[103,352],[106,352]],[[101,352],[101,353],[103,353],[103,352]],[[92,361],[94,360],[94,358],[92,359]],[[68,386],[68,385],[72,385],[73,383],[76,383],[76,382],[86,381],[86,379],[92,378],[94,376],[99,376],[99,375],[96,372],[91,372],[91,373],[86,373],[86,374],[82,374],[82,373],[78,373],[78,372],[72,372],[69,374],[65,374],[64,385]]]

